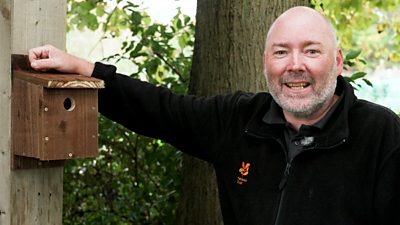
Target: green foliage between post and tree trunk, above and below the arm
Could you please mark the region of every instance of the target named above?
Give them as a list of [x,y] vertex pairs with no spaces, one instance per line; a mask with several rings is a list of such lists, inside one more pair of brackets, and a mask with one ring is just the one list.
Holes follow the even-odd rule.
[[[68,0],[69,30],[129,33],[121,53],[106,60],[137,65],[132,77],[186,93],[194,22],[178,11],[171,24],[153,22],[129,1]],[[174,224],[181,153],[99,117],[100,154],[68,161],[63,224]]]

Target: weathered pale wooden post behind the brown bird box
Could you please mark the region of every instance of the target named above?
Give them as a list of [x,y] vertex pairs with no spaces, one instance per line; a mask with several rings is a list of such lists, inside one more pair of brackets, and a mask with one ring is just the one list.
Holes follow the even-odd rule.
[[28,49],[43,44],[65,49],[66,1],[0,0],[0,7],[6,8],[1,11],[9,18],[0,15],[0,136],[4,135],[0,138],[0,210],[4,208],[0,224],[61,225],[64,168],[11,170],[12,138],[8,133],[13,97],[11,54],[27,54]]

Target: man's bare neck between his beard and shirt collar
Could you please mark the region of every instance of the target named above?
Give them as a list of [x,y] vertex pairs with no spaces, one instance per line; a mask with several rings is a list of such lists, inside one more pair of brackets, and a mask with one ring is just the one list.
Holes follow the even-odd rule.
[[314,114],[307,118],[299,118],[294,116],[291,113],[283,111],[286,121],[293,126],[297,131],[300,129],[301,125],[313,125],[320,121],[326,113],[335,105],[336,101],[339,99],[339,96],[333,95],[332,99],[325,104],[320,110],[316,111]]

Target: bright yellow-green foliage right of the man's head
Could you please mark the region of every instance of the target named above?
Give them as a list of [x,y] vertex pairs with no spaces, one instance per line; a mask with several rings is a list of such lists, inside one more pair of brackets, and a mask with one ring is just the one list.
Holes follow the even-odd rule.
[[398,0],[311,0],[338,31],[341,46],[357,46],[368,61],[359,70],[391,67],[400,62],[400,11]]

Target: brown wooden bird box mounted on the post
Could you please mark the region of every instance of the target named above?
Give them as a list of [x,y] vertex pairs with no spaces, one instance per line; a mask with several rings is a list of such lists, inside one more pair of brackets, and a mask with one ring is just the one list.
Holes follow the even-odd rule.
[[40,73],[27,65],[26,56],[13,56],[12,167],[96,157],[97,92],[104,82],[77,74]]

